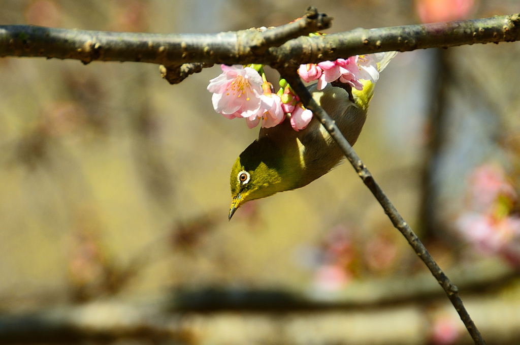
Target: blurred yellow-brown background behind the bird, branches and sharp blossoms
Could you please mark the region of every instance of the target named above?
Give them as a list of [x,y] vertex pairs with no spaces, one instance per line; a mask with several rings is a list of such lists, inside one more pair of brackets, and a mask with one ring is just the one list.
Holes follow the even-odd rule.
[[[3,0],[1,24],[216,33],[308,2]],[[517,0],[314,3],[326,31],[484,18]],[[520,344],[519,43],[401,53],[355,149],[461,289],[488,343]],[[349,164],[250,202],[257,136],[209,80],[142,63],[0,59],[0,343],[471,343]]]

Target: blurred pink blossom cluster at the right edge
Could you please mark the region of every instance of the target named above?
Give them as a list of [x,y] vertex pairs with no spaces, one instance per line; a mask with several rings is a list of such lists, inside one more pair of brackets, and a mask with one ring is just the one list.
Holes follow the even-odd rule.
[[513,212],[518,196],[504,171],[491,164],[470,177],[471,205],[457,219],[460,234],[477,250],[498,254],[520,265],[520,216]]

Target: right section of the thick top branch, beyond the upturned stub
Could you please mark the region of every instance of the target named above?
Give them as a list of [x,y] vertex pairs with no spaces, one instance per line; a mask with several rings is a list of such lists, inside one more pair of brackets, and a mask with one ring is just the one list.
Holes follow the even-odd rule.
[[475,43],[520,40],[520,14],[492,18],[404,25],[380,29],[354,29],[324,36],[298,37],[269,49],[270,65],[318,63],[359,54],[409,52],[424,48],[448,48]]

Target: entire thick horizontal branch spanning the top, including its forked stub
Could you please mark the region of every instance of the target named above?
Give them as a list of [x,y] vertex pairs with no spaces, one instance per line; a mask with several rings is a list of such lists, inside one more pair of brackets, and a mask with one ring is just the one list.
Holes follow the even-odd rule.
[[[214,63],[261,63],[275,68],[346,58],[356,54],[520,40],[520,14],[485,19],[355,29],[302,36],[327,29],[331,18],[310,7],[305,16],[278,28],[217,34],[154,34],[0,25],[0,56],[92,61],[134,61],[166,66],[170,82]],[[297,37],[297,38],[296,38]],[[193,65],[185,65],[193,64]],[[181,70],[181,66],[184,68]]]

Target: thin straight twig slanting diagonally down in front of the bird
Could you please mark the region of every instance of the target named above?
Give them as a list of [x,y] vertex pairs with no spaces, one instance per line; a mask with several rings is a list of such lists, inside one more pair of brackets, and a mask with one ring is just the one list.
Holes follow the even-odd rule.
[[422,244],[419,237],[415,235],[412,231],[411,227],[402,216],[399,214],[397,209],[394,207],[393,203],[388,199],[385,195],[381,187],[378,183],[375,182],[372,174],[367,169],[365,164],[361,161],[361,159],[357,156],[356,152],[350,146],[347,139],[343,136],[339,128],[336,126],[334,121],[330,118],[326,111],[321,108],[313,97],[308,92],[305,85],[300,80],[300,76],[298,76],[295,71],[287,71],[281,70],[280,74],[282,77],[288,81],[288,83],[293,88],[294,92],[300,97],[303,102],[305,108],[313,111],[314,116],[316,116],[322,125],[325,127],[327,132],[334,138],[337,145],[340,146],[342,151],[344,152],[347,159],[350,161],[356,172],[358,173],[363,183],[370,189],[375,198],[379,201],[383,210],[385,211],[388,218],[392,221],[392,224],[401,232],[403,236],[408,240],[410,246],[412,246],[413,250],[419,258],[424,262],[424,264],[428,267],[430,272],[432,272],[433,276],[437,279],[437,282],[443,289],[446,291],[446,295],[448,295],[449,300],[459,313],[459,316],[464,323],[465,327],[469,331],[471,337],[475,341],[475,344],[485,345],[485,341],[480,335],[477,327],[475,326],[473,320],[470,317],[470,314],[464,307],[461,298],[459,297],[459,289],[456,285],[451,283],[450,279],[446,276],[443,270],[440,269],[439,265],[435,262],[432,255],[427,251],[426,247]]

